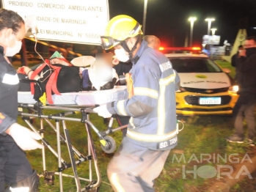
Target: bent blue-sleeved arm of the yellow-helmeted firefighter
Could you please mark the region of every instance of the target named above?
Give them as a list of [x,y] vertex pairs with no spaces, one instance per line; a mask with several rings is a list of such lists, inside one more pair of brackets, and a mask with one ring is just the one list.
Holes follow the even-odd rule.
[[160,71],[148,65],[136,67],[133,71],[134,96],[128,100],[119,100],[108,103],[107,108],[111,114],[121,116],[140,117],[149,114],[158,102],[158,85]]

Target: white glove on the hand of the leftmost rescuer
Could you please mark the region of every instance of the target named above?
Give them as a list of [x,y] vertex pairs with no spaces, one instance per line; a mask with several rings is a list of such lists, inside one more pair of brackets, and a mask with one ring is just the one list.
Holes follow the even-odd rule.
[[9,128],[9,135],[12,136],[12,139],[18,144],[18,147],[21,147],[23,150],[34,150],[42,149],[43,145],[39,144],[37,141],[40,139],[40,136],[37,136],[32,130],[25,128],[18,123],[13,123]]

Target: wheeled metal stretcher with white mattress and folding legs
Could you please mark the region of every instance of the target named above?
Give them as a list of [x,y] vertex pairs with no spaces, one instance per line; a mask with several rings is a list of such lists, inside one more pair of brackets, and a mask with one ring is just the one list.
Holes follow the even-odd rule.
[[[121,125],[118,128],[112,128],[114,117],[111,117],[109,121],[109,127],[104,131],[99,131],[95,128],[95,125],[89,121],[89,114],[93,113],[93,108],[98,105],[113,102],[115,100],[122,100],[126,97],[125,86],[115,86],[114,89],[102,90],[102,91],[89,91],[89,92],[71,92],[62,93],[62,95],[53,95],[54,105],[44,105],[41,102],[37,102],[33,99],[31,92],[18,92],[18,111],[19,116],[26,122],[29,128],[35,133],[41,136],[43,143],[42,158],[43,158],[43,174],[40,176],[44,178],[44,181],[50,185],[54,184],[54,175],[59,175],[59,191],[63,191],[62,177],[73,178],[76,182],[76,191],[98,191],[101,178],[100,171],[98,169],[98,160],[95,152],[94,141],[92,139],[92,131],[94,131],[100,141],[101,148],[106,153],[114,152],[116,144],[109,133],[117,130],[122,130],[127,125]],[[56,114],[47,114],[47,111],[56,111]],[[78,117],[69,117],[74,115]],[[35,128],[32,123],[32,119],[40,121],[40,128]],[[55,121],[55,125],[52,122]],[[85,126],[87,133],[88,145],[87,155],[83,155],[71,144],[70,134],[65,121],[73,121],[82,123]],[[46,126],[50,127],[56,133],[56,150],[51,147],[48,141],[45,139],[45,122]],[[60,128],[63,128],[61,133]],[[61,152],[61,142],[67,144],[67,150],[70,159],[64,160]],[[48,171],[46,167],[46,155],[45,149],[49,149],[58,160],[57,171]],[[70,161],[70,162],[69,162]],[[83,178],[78,176],[76,166],[81,163],[88,163],[89,166],[89,178]],[[94,164],[93,164],[94,163]],[[92,166],[93,165],[93,166]],[[94,171],[92,171],[94,167]],[[73,169],[73,174],[65,174],[65,169]],[[96,174],[96,180],[92,177],[92,174]],[[82,185],[81,181],[86,182],[87,185]]]

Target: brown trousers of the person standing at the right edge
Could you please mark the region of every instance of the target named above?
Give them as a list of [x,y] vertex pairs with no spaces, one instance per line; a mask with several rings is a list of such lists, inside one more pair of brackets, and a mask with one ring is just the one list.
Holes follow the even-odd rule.
[[235,117],[235,135],[244,137],[244,117],[247,122],[248,138],[254,139],[255,137],[255,95],[249,93],[242,93],[238,98],[237,103],[233,109]]

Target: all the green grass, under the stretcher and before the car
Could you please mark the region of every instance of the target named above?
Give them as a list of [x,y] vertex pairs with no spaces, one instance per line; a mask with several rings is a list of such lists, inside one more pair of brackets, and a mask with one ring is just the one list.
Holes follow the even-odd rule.
[[[222,67],[229,68],[231,70],[230,75],[234,75],[234,67],[231,67],[229,63],[216,61]],[[50,113],[55,113],[50,111]],[[78,114],[79,115],[79,114]],[[231,154],[238,154],[241,159],[244,154],[251,150],[248,144],[230,144],[227,143],[225,138],[233,133],[233,119],[231,117],[224,116],[191,116],[191,117],[178,117],[178,119],[185,121],[185,128],[178,134],[178,146],[173,149],[164,169],[160,176],[156,180],[156,191],[159,192],[185,192],[185,191],[205,191],[208,185],[211,185],[213,178],[202,178],[196,174],[191,174],[186,171],[193,171],[196,169],[216,167],[219,164],[230,163],[229,160],[216,160],[216,155],[229,157]],[[103,123],[103,118],[98,117],[95,114],[90,115],[90,120],[98,130],[106,130],[106,124]],[[21,124],[25,125],[22,120],[18,120]],[[54,122],[53,122],[54,123]],[[35,122],[36,127],[39,126],[39,122]],[[84,125],[79,122],[66,122],[67,128],[70,132],[72,144],[84,155],[87,155],[87,133]],[[25,125],[26,126],[26,125]],[[54,130],[45,126],[45,139],[56,150],[56,134]],[[26,126],[27,127],[27,126]],[[114,127],[117,127],[117,122],[114,121]],[[63,132],[63,131],[62,131]],[[117,142],[117,147],[122,140],[121,131],[117,131],[111,135]],[[113,154],[106,154],[100,147],[98,136],[92,131],[92,138],[94,140],[95,149],[98,155],[98,166],[102,178],[100,185],[100,191],[111,192],[111,186],[106,176],[106,167],[111,160]],[[180,151],[180,152],[178,152]],[[180,154],[182,153],[182,154]],[[39,174],[43,172],[43,162],[41,152],[39,149],[26,152],[29,161],[34,169]],[[205,156],[202,157],[202,154]],[[215,155],[215,156],[214,156]],[[180,159],[180,157],[183,157]],[[208,157],[208,159],[207,159]],[[65,144],[62,144],[62,158],[70,162]],[[206,159],[206,160],[205,160]],[[47,170],[57,171],[56,157],[46,149]],[[178,161],[179,160],[179,161]],[[89,177],[88,163],[84,162],[78,166],[79,177]],[[185,171],[185,176],[183,172]],[[210,170],[211,171],[211,170]],[[63,171],[65,174],[73,174],[72,170],[67,169]],[[95,176],[95,174],[92,174]],[[202,175],[201,175],[202,176]],[[95,178],[95,177],[94,177]],[[43,178],[40,179],[40,191],[59,191],[58,176],[55,177],[54,185],[46,185],[43,183]],[[81,182],[81,186],[84,187],[87,182]],[[64,191],[76,191],[76,184],[73,179],[64,178],[63,180]],[[235,185],[233,191],[239,191],[241,186]]]

